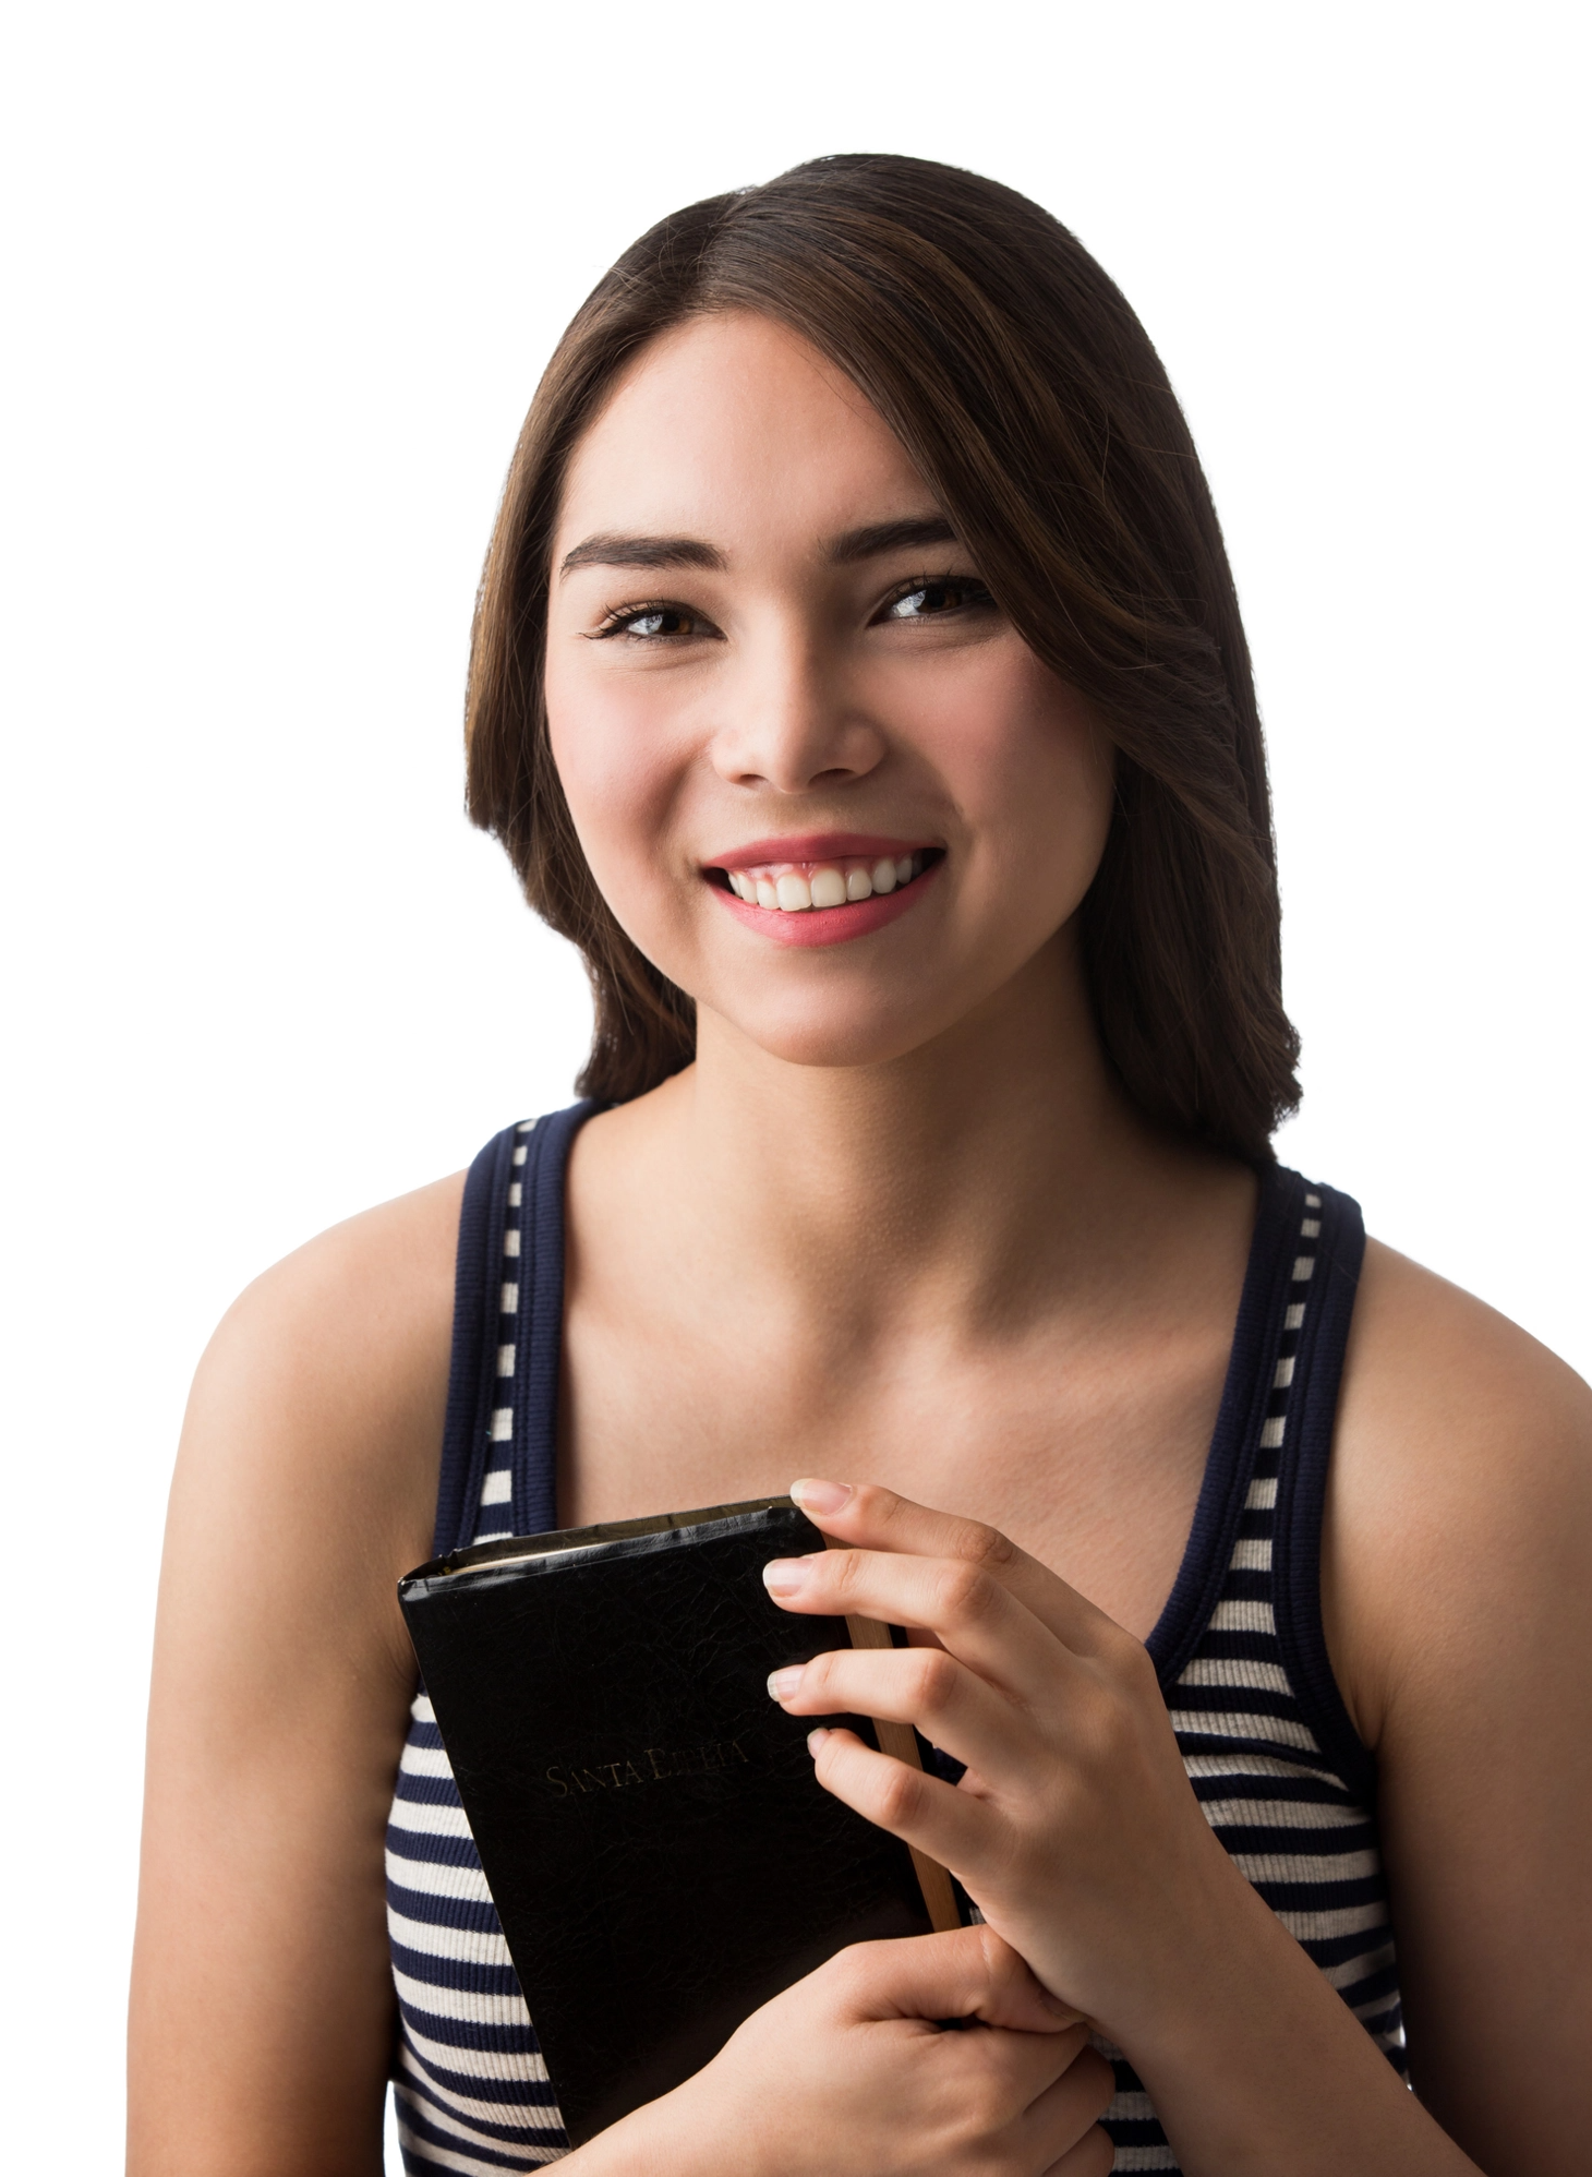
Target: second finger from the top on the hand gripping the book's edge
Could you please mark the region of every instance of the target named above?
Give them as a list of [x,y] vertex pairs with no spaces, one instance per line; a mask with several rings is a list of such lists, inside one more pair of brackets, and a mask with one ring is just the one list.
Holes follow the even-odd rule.
[[1000,1581],[960,1557],[817,1550],[773,1559],[762,1581],[786,1611],[923,1626],[980,1678],[1019,1700],[1054,1700],[1085,1668]]

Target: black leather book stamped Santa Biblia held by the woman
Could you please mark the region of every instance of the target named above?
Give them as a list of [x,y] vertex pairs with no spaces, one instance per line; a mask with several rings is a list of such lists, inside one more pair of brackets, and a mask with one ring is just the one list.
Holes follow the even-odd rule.
[[514,1970],[577,2144],[699,2070],[849,1942],[954,1927],[950,1877],[812,1774],[845,1722],[791,1718],[771,1670],[889,1644],[795,1618],[771,1557],[823,1535],[788,1500],[481,1543],[399,1583]]

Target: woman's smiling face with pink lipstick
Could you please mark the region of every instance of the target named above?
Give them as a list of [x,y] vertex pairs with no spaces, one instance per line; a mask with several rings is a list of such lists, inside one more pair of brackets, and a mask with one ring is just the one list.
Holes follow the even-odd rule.
[[801,1065],[897,1058],[997,1001],[1111,821],[1082,697],[852,381],[749,313],[653,342],[577,446],[547,708],[623,927]]

